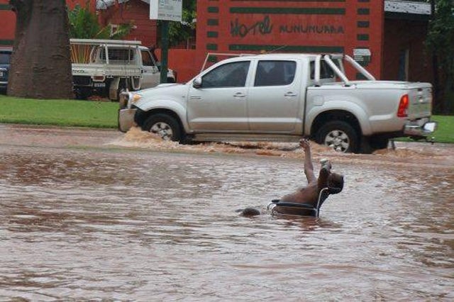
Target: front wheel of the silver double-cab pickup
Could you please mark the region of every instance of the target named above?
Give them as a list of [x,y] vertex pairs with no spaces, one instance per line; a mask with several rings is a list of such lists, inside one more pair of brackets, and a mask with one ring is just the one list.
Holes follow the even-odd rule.
[[150,116],[143,123],[142,129],[159,135],[162,140],[178,142],[182,138],[182,131],[177,120],[165,113],[157,113]]

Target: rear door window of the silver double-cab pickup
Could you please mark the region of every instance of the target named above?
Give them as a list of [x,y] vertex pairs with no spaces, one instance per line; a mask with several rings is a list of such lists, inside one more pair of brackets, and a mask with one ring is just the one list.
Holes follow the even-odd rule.
[[254,86],[282,86],[292,84],[297,63],[294,61],[261,60],[255,72]]

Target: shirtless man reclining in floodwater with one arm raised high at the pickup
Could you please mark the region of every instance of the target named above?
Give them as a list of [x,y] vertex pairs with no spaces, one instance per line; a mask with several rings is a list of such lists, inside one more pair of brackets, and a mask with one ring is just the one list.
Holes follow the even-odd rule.
[[[316,207],[319,201],[321,189],[328,188],[330,194],[338,194],[343,189],[343,176],[331,172],[331,163],[323,162],[319,172],[319,179],[314,174],[314,166],[311,158],[311,145],[308,140],[300,140],[299,145],[304,150],[304,174],[306,174],[307,186],[304,186],[292,194],[283,196],[280,201],[289,203],[306,203]],[[282,214],[292,214],[294,208],[276,206],[275,210]]]

